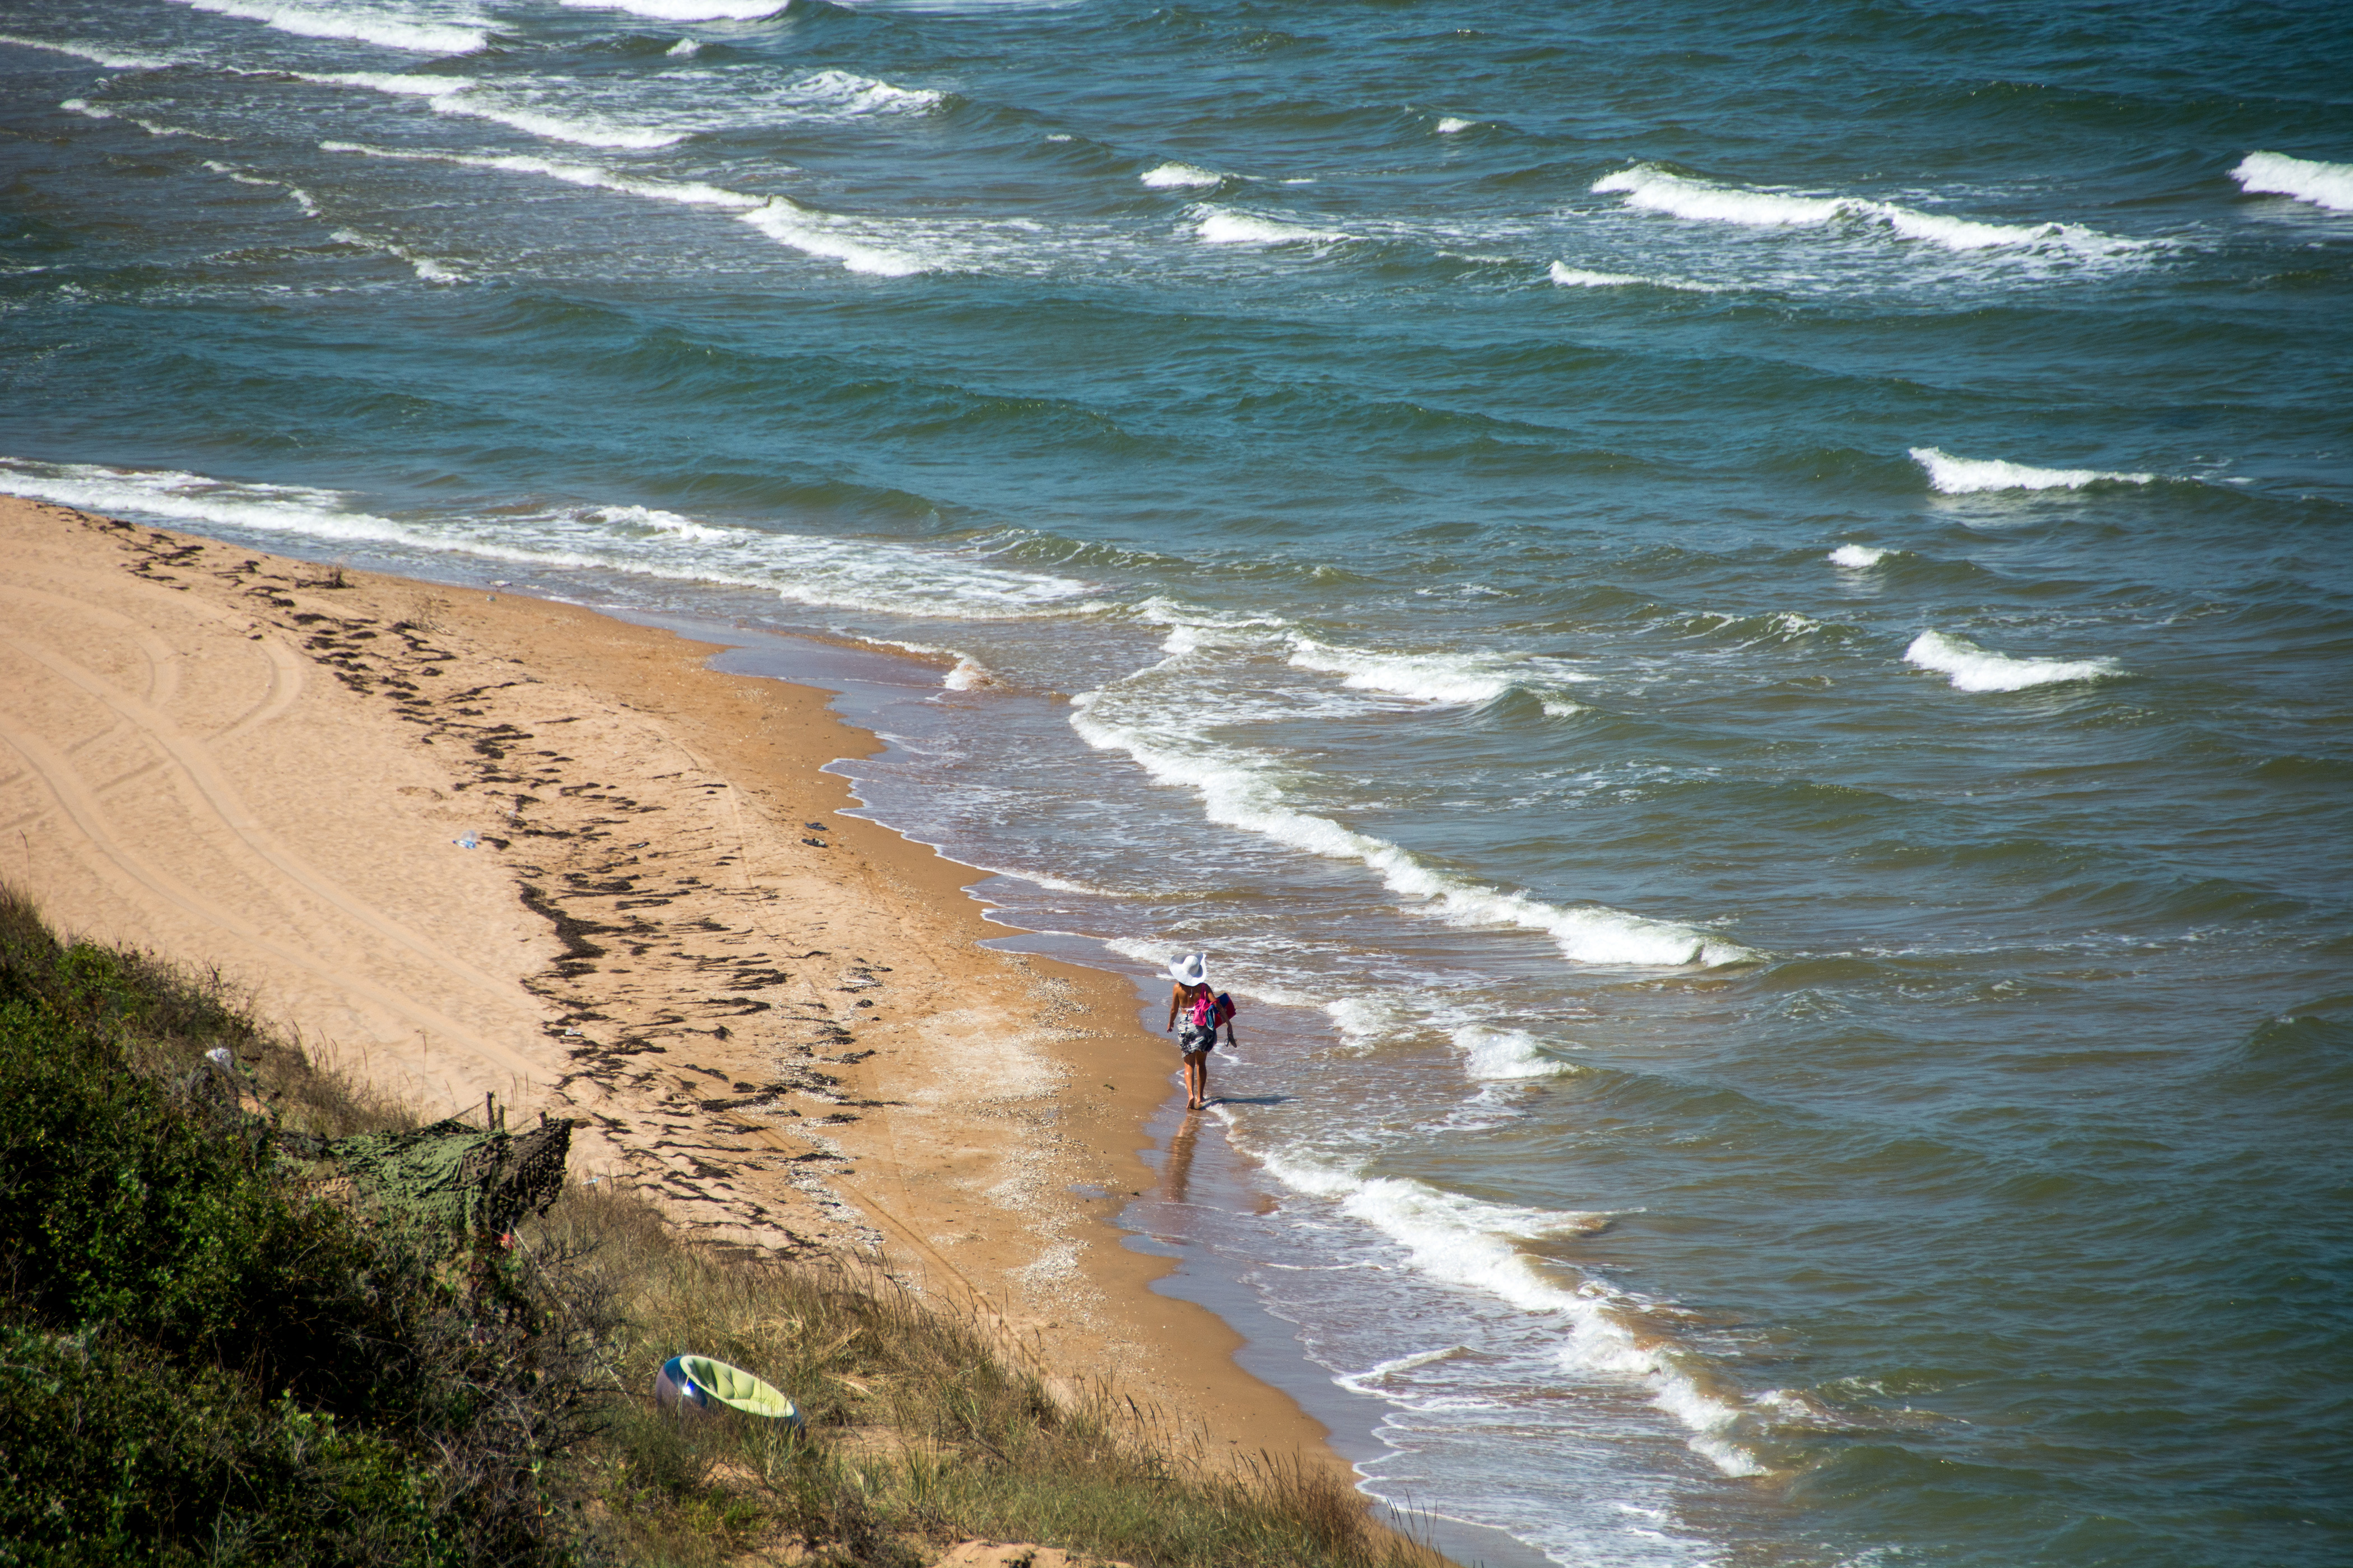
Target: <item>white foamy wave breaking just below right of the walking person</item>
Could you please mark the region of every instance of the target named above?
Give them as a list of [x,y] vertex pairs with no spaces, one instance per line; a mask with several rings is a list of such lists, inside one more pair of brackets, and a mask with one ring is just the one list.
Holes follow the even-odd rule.
[[1428,1182],[1360,1178],[1285,1154],[1266,1154],[1264,1161],[1287,1187],[1334,1199],[1341,1213],[1402,1246],[1414,1272],[1558,1319],[1567,1328],[1555,1352],[1562,1366],[1642,1385],[1652,1403],[1692,1434],[1687,1443],[1694,1453],[1729,1476],[1765,1474],[1739,1441],[1758,1418],[1697,1352],[1659,1328],[1640,1298],[1593,1276],[1560,1279],[1513,1246],[1593,1234],[1609,1215],[1480,1204]]

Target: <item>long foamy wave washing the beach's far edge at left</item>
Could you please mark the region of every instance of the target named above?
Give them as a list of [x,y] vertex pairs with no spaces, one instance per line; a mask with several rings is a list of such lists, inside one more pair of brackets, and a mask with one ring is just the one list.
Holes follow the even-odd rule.
[[951,550],[887,541],[718,529],[638,505],[400,522],[351,496],[296,484],[240,484],[174,470],[0,458],[0,494],[132,512],[179,524],[327,543],[376,543],[518,567],[600,569],[675,583],[732,583],[795,604],[1009,621],[1101,609],[1087,583],[1005,571]]

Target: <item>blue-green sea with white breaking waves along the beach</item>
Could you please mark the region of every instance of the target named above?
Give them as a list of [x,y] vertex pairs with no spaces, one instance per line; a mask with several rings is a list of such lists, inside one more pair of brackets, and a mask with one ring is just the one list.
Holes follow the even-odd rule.
[[929,649],[1372,1490],[2353,1559],[2337,7],[0,0],[0,489]]

